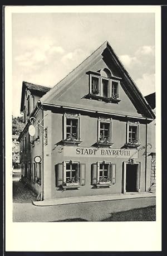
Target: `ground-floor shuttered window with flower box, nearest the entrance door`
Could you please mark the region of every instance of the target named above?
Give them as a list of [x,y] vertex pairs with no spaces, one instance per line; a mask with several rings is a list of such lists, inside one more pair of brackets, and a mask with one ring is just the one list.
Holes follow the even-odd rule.
[[116,165],[111,162],[97,162],[91,165],[91,184],[110,187],[116,183]]

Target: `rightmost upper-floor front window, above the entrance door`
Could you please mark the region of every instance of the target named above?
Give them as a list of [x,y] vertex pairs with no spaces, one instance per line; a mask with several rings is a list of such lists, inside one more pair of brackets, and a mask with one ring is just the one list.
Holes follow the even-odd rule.
[[139,123],[127,122],[126,145],[129,147],[140,146],[139,144]]

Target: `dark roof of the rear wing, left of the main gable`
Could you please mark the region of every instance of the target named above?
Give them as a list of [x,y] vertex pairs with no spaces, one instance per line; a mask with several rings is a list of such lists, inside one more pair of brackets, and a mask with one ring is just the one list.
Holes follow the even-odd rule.
[[23,107],[24,107],[24,94],[26,88],[30,91],[32,95],[40,96],[42,97],[44,94],[47,93],[51,88],[47,86],[42,86],[42,85],[37,85],[37,84],[32,84],[28,83],[26,81],[23,81],[22,83],[22,98],[21,98],[21,112],[23,112]]

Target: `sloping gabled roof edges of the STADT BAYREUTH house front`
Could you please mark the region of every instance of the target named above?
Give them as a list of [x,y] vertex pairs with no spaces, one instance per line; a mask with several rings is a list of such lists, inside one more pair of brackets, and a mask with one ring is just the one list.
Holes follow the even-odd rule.
[[[137,88],[131,76],[126,71],[125,67],[122,65],[121,61],[116,56],[114,50],[107,41],[105,41],[104,44],[102,44],[96,51],[94,51],[89,57],[87,57],[87,59],[85,59],[80,65],[78,65],[74,70],[72,70],[71,73],[69,73],[50,91],[43,95],[40,99],[40,102],[43,104],[50,104],[53,97],[55,97],[58,93],[65,89],[66,86],[68,86],[68,84],[70,84],[73,80],[77,78],[77,76],[82,74],[83,71],[86,70],[86,67],[89,66],[91,63],[95,62],[95,60],[100,55],[102,57],[105,57],[109,64],[112,61],[114,65],[117,67],[121,74],[122,81],[124,80],[124,90],[126,94],[129,96],[131,102],[137,108],[137,110],[143,113],[144,117],[154,119],[155,115],[150,105],[145,100],[144,96],[141,94],[140,90]],[[58,104],[58,102],[56,102],[55,104]]]

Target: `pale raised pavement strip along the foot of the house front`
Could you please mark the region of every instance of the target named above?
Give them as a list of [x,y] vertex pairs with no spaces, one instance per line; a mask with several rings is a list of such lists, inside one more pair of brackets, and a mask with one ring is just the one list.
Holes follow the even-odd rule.
[[53,205],[66,205],[78,204],[81,202],[99,202],[99,201],[112,201],[123,199],[134,199],[144,197],[155,197],[155,194],[149,192],[129,192],[127,194],[113,194],[113,195],[97,195],[97,196],[80,196],[80,197],[67,197],[57,199],[46,199],[43,201],[32,201],[36,206],[53,206]]

